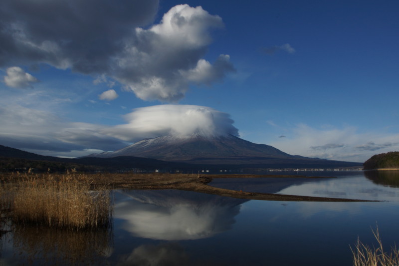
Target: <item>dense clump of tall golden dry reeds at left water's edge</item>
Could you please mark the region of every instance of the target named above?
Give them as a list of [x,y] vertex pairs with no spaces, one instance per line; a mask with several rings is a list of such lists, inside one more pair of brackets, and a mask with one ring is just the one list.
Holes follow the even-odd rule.
[[112,221],[109,190],[95,188],[74,173],[15,175],[2,182],[2,206],[15,223],[57,228],[108,227]]

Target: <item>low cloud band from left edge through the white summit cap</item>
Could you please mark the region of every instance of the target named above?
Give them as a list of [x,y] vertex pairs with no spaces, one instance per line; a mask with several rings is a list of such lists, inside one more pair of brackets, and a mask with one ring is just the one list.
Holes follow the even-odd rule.
[[10,104],[0,107],[0,144],[43,155],[78,157],[161,135],[238,136],[227,113],[205,106],[143,107],[125,119],[125,124],[115,126],[66,122],[50,112]]

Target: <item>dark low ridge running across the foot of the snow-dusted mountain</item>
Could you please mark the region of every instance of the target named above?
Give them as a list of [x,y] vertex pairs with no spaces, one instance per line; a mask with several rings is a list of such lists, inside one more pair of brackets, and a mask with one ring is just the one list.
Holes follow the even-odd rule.
[[[293,156],[292,158],[295,158]],[[306,157],[301,157],[301,159]],[[307,158],[309,159],[309,158]],[[312,158],[310,158],[312,159]],[[7,167],[8,166],[8,167]],[[80,169],[82,171],[93,170],[131,170],[144,169],[155,171],[156,169],[164,171],[191,171],[197,172],[204,169],[219,171],[226,170],[240,170],[244,168],[250,169],[266,169],[266,168],[333,168],[333,167],[361,167],[361,163],[332,161],[324,159],[312,159],[311,161],[302,161],[300,164],[295,162],[281,161],[278,159],[271,160],[269,163],[240,163],[240,164],[226,164],[219,162],[217,164],[208,163],[190,163],[190,162],[168,162],[152,158],[133,157],[133,156],[117,156],[110,158],[95,158],[95,157],[80,157],[80,158],[59,158],[52,156],[38,155],[22,151],[19,149],[6,147],[0,145],[0,168],[2,169],[16,169],[32,167],[41,171],[47,171],[48,168],[54,171],[62,171],[68,168]]]

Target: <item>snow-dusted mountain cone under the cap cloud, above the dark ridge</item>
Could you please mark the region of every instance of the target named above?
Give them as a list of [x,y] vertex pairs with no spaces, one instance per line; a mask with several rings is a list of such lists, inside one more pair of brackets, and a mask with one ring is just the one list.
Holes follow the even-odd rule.
[[[100,158],[136,156],[169,162],[208,165],[279,165],[280,167],[338,165],[338,161],[293,156],[272,146],[255,144],[232,135],[217,137],[161,136],[144,139],[114,152],[90,156]],[[346,166],[348,164],[358,165],[348,162],[339,163]]]

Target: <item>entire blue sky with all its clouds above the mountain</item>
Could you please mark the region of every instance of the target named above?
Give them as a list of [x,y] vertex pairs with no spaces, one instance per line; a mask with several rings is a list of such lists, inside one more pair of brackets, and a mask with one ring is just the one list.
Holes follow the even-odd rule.
[[15,2],[2,145],[76,157],[207,128],[334,160],[399,150],[397,1]]

